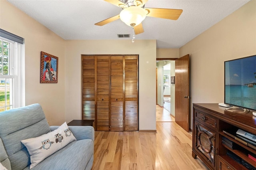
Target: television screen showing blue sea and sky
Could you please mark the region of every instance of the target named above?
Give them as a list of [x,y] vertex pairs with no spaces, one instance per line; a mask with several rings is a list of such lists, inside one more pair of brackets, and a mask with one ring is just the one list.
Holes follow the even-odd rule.
[[225,103],[256,111],[256,55],[225,62]]

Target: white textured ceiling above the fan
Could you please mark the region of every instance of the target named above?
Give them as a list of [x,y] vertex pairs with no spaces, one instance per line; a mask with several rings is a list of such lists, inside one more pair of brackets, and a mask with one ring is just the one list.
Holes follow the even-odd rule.
[[[97,22],[122,10],[104,0],[7,0],[52,30],[64,40],[132,40],[117,34],[131,34],[121,20],[104,26]],[[148,0],[145,8],[182,9],[178,20],[146,17],[144,33],[136,40],[156,40],[157,48],[179,48],[249,0]]]

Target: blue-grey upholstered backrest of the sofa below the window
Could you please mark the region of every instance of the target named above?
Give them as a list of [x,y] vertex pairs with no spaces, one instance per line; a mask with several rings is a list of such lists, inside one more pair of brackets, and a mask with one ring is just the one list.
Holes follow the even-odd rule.
[[[20,141],[50,132],[42,107],[39,104],[33,104],[3,111],[0,114],[0,120],[0,138],[12,169],[26,168],[30,164],[29,154]],[[0,152],[2,154],[2,151]]]

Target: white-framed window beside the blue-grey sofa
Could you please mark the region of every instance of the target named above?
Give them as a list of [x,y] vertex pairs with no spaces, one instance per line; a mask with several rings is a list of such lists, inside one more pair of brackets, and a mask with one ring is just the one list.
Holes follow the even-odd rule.
[[22,44],[0,37],[0,112],[24,105],[21,51]]

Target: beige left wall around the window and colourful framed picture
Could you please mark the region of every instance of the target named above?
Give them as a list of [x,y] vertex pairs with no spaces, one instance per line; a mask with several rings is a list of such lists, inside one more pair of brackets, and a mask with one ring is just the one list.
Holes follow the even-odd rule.
[[[0,28],[25,39],[25,105],[40,103],[50,125],[65,121],[64,40],[5,0]],[[58,83],[40,83],[40,52],[58,57]]]

